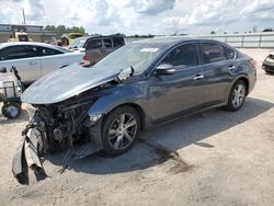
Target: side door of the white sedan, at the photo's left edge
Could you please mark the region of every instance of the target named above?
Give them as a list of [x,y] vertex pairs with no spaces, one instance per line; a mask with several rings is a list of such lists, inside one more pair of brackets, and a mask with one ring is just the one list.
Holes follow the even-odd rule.
[[36,46],[18,45],[0,50],[0,67],[14,66],[24,84],[36,81],[42,76],[41,57]]

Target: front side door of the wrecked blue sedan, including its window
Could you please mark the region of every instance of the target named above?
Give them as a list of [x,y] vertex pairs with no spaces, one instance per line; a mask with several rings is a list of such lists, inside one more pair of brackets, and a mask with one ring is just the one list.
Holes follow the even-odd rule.
[[199,64],[198,45],[185,44],[172,49],[160,65],[172,65],[172,75],[153,75],[149,94],[153,123],[199,110],[204,104],[204,70]]

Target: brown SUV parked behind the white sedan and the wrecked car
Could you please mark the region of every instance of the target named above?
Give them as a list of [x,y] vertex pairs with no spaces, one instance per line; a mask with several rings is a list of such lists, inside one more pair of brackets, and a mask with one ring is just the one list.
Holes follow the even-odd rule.
[[111,36],[84,36],[76,38],[69,45],[69,49],[85,52],[91,65],[101,58],[125,45],[125,39],[121,35]]

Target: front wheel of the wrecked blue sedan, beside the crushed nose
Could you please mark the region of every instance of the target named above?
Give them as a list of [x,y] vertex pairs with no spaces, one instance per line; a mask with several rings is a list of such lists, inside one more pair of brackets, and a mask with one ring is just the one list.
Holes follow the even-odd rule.
[[[123,115],[124,115],[124,122],[122,125],[121,119]],[[127,126],[130,125],[128,123],[134,124],[135,122],[136,125],[126,128]],[[121,129],[122,127],[123,129]],[[125,151],[129,150],[133,147],[139,130],[140,130],[140,117],[136,112],[136,110],[134,110],[130,106],[121,106],[112,111],[110,114],[106,115],[102,125],[103,152],[105,154],[115,156],[124,153]],[[115,134],[113,134],[113,131],[115,131]],[[123,137],[121,138],[121,136]],[[115,148],[116,146],[118,148]]]

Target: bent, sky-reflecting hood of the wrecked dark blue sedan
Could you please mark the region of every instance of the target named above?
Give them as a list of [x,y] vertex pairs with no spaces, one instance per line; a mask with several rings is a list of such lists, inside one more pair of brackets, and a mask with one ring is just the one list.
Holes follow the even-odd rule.
[[84,68],[78,64],[56,70],[28,87],[21,101],[28,104],[53,104],[114,80],[118,70]]

